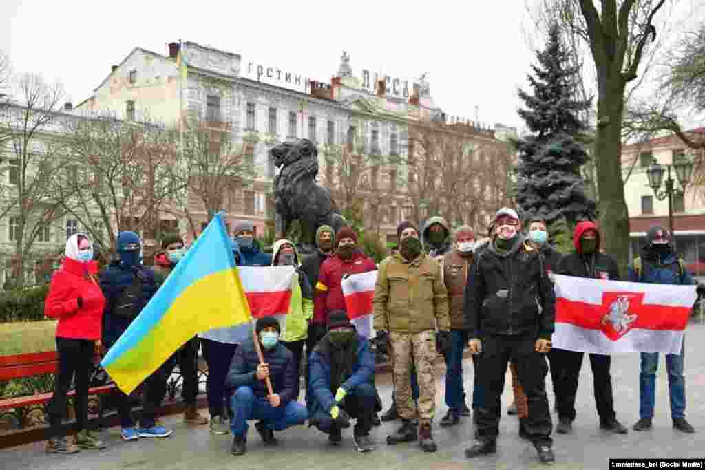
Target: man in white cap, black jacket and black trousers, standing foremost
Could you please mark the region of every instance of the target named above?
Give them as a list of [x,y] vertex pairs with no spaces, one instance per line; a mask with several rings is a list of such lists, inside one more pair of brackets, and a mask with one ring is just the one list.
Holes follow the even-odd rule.
[[543,256],[520,234],[513,209],[500,209],[495,235],[477,255],[465,288],[465,316],[470,328],[470,351],[482,354],[479,383],[485,402],[479,411],[477,442],[465,457],[496,452],[500,397],[507,364],[517,366],[519,383],[527,395],[525,424],[544,463],[555,461],[551,445],[551,413],[546,398],[546,353],[556,314],[553,283],[544,271]]

